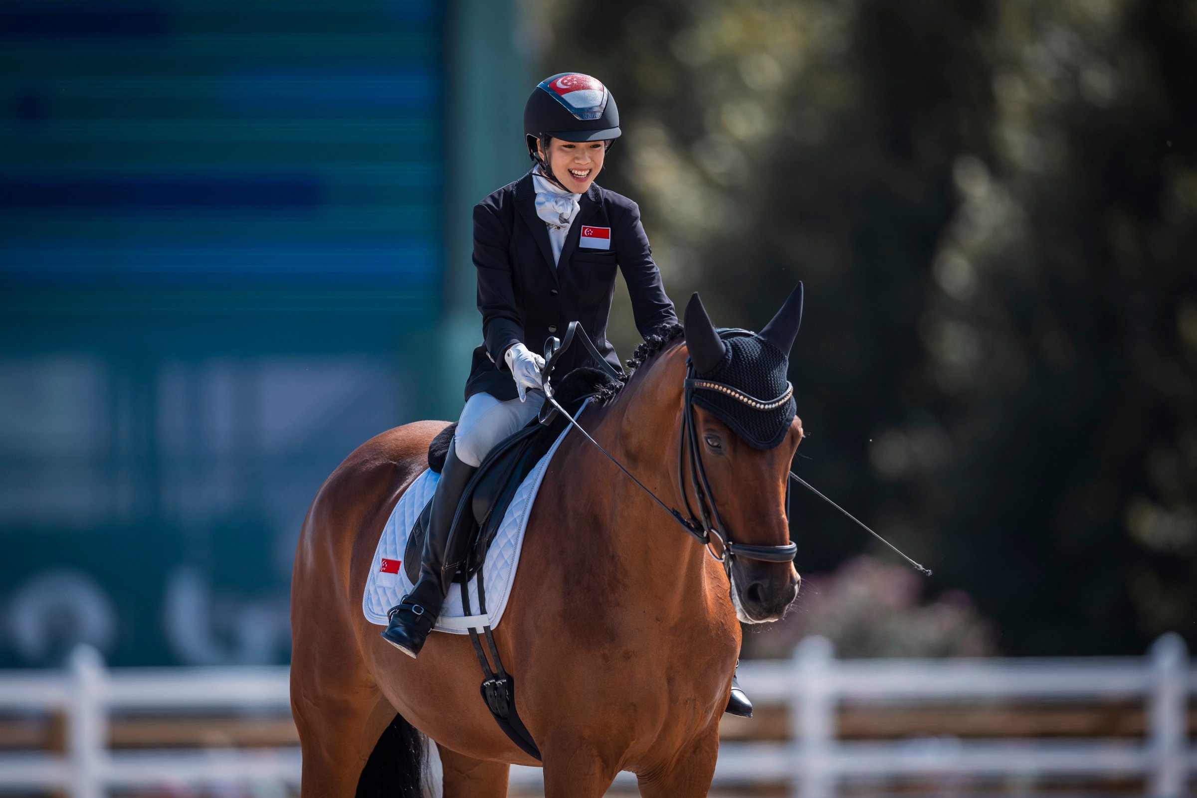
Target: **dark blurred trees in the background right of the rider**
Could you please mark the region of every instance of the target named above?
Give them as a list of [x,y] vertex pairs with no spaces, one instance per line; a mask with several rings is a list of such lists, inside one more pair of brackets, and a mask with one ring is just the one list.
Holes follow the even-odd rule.
[[[602,182],[642,203],[675,300],[759,328],[806,281],[804,476],[973,596],[1009,653],[1197,642],[1191,4],[533,16],[546,73],[615,91]],[[803,569],[868,546],[807,497],[794,519]]]

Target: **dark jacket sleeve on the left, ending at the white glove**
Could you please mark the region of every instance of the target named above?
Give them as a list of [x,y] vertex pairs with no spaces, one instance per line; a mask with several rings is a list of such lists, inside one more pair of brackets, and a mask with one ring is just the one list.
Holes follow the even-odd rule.
[[478,267],[478,312],[482,315],[482,339],[494,367],[506,371],[503,355],[524,339],[523,322],[511,282],[511,237],[503,221],[486,205],[474,206],[474,266]]

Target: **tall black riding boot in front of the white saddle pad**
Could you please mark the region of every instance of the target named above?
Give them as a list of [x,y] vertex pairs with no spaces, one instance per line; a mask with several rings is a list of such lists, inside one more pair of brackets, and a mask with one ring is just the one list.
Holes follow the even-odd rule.
[[[454,513],[466,489],[466,483],[474,476],[476,468],[466,465],[457,459],[457,449],[449,443],[444,468],[440,469],[440,481],[432,494],[432,512],[429,516],[429,529],[424,538],[424,555],[420,561],[420,579],[415,583],[403,601],[391,607],[387,616],[390,623],[382,633],[383,639],[405,654],[415,657],[424,647],[424,640],[440,615],[445,593],[452,583],[457,564],[464,552],[445,552],[452,531]],[[454,548],[461,549],[468,541],[458,535]],[[448,556],[446,556],[448,554]]]

